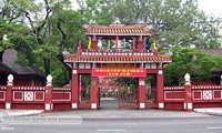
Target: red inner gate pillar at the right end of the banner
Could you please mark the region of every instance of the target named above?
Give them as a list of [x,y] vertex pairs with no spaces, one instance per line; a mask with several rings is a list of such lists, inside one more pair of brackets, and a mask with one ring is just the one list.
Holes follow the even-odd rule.
[[138,99],[139,99],[139,108],[145,109],[145,78],[139,78],[139,92],[138,92]]

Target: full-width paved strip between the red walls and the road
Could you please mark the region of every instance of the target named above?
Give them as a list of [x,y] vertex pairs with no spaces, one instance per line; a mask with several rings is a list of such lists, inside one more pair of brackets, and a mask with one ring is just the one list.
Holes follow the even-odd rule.
[[[43,113],[43,110],[0,110],[9,116],[81,116],[83,119],[145,119],[222,116],[222,108],[194,109],[193,112],[169,110],[74,110]],[[210,115],[209,115],[210,114]]]

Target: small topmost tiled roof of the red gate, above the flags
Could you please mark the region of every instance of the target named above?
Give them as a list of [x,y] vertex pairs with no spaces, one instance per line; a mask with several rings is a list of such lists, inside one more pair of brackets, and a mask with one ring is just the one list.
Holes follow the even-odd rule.
[[150,29],[144,25],[89,25],[87,35],[150,35]]

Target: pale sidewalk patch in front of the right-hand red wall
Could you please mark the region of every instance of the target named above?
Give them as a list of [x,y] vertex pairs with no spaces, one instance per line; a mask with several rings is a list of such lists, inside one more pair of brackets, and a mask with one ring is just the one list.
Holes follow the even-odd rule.
[[194,112],[222,116],[222,108],[194,109]]

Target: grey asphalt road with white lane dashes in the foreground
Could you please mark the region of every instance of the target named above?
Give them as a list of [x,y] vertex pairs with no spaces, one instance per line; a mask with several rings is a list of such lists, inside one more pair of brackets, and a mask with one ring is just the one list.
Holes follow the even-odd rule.
[[221,133],[221,116],[84,119],[81,124],[10,125],[6,133]]

